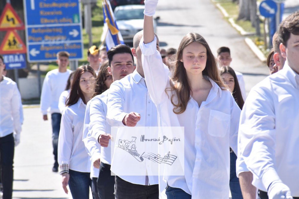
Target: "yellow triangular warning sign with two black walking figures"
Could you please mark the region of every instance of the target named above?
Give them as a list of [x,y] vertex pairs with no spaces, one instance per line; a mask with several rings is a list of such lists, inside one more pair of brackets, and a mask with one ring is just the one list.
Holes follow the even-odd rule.
[[7,31],[0,45],[0,54],[26,53],[26,46],[16,31]]

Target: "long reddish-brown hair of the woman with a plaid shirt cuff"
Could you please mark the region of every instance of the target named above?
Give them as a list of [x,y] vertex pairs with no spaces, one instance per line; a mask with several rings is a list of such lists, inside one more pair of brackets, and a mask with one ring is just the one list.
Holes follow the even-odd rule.
[[79,98],[81,97],[84,104],[86,104],[84,95],[80,89],[80,77],[84,72],[90,72],[94,77],[96,77],[96,74],[94,70],[89,65],[82,65],[78,67],[74,73],[73,82],[71,85],[71,92],[66,100],[66,106],[74,105],[78,102]]

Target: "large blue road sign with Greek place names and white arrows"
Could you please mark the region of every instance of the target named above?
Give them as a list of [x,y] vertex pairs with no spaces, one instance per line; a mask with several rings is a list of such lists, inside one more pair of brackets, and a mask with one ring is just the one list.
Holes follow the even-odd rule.
[[56,60],[67,51],[70,59],[83,58],[79,0],[23,0],[29,62]]

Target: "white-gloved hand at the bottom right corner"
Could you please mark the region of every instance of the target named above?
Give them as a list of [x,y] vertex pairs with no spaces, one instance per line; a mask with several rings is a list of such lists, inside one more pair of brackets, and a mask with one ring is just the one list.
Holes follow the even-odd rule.
[[268,189],[269,199],[292,199],[291,191],[288,186],[280,180],[273,181]]

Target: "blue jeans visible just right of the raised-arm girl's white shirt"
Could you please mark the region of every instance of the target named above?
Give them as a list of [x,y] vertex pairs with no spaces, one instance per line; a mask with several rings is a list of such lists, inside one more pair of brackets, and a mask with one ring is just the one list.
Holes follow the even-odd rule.
[[231,167],[230,167],[230,178],[229,178],[229,188],[231,189],[231,198],[232,199],[242,199],[242,192],[241,192],[241,187],[240,187],[240,182],[239,178],[237,177],[236,174],[236,160],[237,156],[230,149],[230,159],[231,159]]

